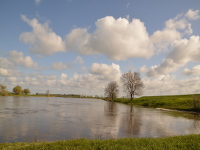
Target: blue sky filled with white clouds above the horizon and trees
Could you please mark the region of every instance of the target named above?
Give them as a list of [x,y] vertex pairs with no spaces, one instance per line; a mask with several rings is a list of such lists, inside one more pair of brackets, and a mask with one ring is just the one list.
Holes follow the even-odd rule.
[[200,89],[199,0],[0,0],[0,84],[104,96],[139,72],[144,94]]

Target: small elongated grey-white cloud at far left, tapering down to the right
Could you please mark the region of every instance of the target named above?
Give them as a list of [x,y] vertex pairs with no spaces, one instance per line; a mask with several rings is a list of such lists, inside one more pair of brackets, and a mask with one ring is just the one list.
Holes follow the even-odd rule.
[[8,59],[15,65],[21,65],[25,68],[33,68],[36,70],[41,70],[38,64],[32,60],[30,56],[24,56],[22,52],[16,50],[9,52]]

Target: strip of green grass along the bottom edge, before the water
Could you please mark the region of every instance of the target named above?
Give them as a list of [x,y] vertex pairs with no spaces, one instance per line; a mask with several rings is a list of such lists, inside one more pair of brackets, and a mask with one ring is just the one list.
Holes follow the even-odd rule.
[[2,143],[1,150],[200,150],[200,135],[165,138],[77,139],[56,142]]

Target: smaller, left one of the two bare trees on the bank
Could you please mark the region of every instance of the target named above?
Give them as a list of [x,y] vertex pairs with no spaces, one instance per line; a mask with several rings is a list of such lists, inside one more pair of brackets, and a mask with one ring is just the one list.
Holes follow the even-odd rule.
[[114,98],[117,97],[118,93],[119,93],[119,86],[117,82],[115,81],[109,82],[107,87],[105,88],[105,95],[111,98],[113,101]]

